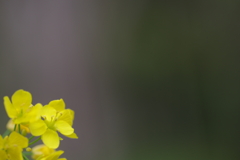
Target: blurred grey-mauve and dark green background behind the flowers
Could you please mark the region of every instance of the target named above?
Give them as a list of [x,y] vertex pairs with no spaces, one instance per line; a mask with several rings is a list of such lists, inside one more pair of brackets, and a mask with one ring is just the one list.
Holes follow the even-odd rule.
[[61,142],[69,160],[239,160],[239,7],[0,1],[0,97],[63,98],[79,136]]

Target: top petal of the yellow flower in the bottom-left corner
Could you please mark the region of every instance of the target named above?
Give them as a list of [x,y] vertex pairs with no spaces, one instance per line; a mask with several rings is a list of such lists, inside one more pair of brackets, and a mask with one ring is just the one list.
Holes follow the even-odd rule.
[[13,131],[8,138],[8,144],[11,146],[19,146],[21,148],[25,148],[28,146],[28,139],[21,134]]

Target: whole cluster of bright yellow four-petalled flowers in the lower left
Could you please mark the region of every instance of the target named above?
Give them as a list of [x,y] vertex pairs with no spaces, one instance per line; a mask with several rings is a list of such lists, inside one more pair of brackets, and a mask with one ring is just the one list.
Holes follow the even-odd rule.
[[[33,160],[66,160],[59,158],[64,151],[55,150],[63,140],[59,133],[78,137],[72,127],[74,111],[65,108],[63,99],[33,105],[31,93],[20,89],[3,100],[10,120],[7,131],[0,135],[0,160],[29,160],[29,156]],[[30,148],[40,140],[43,144]]]

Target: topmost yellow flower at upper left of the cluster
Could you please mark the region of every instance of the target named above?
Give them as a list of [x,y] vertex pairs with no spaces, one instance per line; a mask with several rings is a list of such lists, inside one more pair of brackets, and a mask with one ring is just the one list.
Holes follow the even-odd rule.
[[12,95],[12,102],[7,96],[3,100],[6,112],[14,124],[28,123],[37,119],[41,104],[33,107],[31,93],[20,89]]

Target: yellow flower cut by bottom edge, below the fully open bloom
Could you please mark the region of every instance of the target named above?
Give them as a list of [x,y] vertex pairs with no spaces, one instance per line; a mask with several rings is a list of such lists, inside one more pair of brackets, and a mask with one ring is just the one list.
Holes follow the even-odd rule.
[[67,160],[66,158],[59,158],[64,151],[55,151],[43,144],[33,147],[32,153],[32,158],[34,160]]

